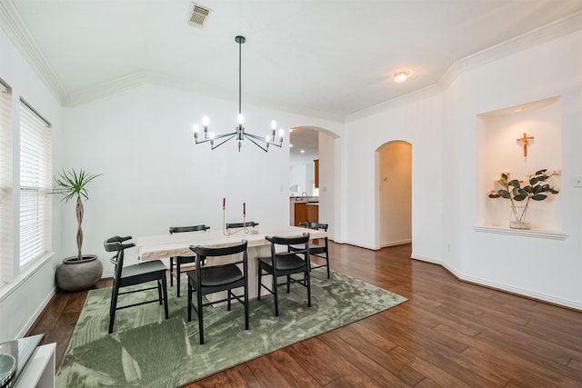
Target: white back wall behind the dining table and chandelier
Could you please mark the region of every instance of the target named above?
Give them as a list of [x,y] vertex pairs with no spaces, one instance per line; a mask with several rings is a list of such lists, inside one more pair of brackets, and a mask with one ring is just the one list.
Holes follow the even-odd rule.
[[[273,117],[284,128],[315,122],[252,105],[243,108],[246,131],[252,134]],[[223,197],[226,222],[241,222],[246,203],[246,220],[258,222],[259,228],[289,224],[288,138],[283,148],[268,153],[248,141],[238,153],[235,140],[211,151],[209,144],[195,144],[191,131],[204,114],[210,116],[212,131],[226,133],[236,123],[236,102],[142,85],[65,109],[61,166],[104,174],[91,184],[85,203],[84,251],[102,258],[105,274],[113,270],[105,260],[105,238],[166,234],[170,226],[187,224],[220,230]],[[73,204],[65,214],[63,245],[71,254]],[[135,251],[127,257],[135,260]]]

